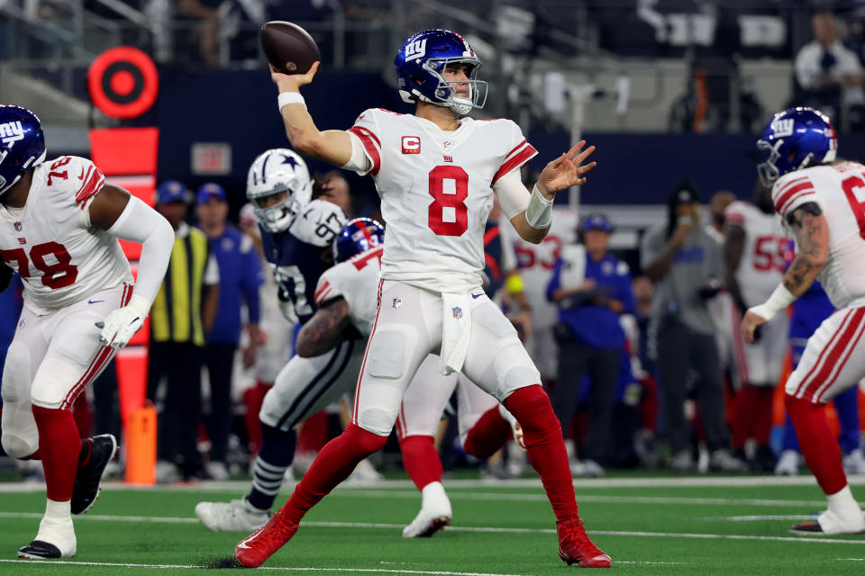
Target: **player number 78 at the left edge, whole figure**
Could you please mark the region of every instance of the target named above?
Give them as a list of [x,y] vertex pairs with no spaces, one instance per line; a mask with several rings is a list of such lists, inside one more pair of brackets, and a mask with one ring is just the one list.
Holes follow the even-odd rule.
[[[24,284],[24,308],[3,371],[3,448],[41,459],[48,503],[39,532],[18,555],[76,553],[71,514],[89,509],[111,435],[78,439],[71,406],[150,311],[168,267],[171,226],[82,157],[45,162],[39,119],[0,106],[0,257]],[[138,282],[117,238],[141,242]],[[10,269],[11,268],[11,269]]]

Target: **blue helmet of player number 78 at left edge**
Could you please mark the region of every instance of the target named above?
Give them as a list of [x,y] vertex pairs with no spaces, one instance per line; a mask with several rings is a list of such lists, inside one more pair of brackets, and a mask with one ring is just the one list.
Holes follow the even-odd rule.
[[36,114],[23,106],[0,105],[0,194],[45,160],[45,135]]

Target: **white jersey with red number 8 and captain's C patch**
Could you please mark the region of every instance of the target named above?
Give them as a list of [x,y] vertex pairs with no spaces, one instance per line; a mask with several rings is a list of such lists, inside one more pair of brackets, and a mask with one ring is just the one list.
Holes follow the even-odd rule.
[[382,278],[439,293],[478,288],[492,186],[537,154],[519,126],[463,118],[445,131],[370,109],[350,131],[369,157],[387,221]]

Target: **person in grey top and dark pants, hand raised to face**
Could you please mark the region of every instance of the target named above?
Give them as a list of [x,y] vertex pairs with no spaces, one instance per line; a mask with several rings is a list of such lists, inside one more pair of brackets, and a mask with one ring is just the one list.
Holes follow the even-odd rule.
[[711,454],[709,467],[738,472],[744,464],[728,449],[715,325],[706,309],[706,300],[718,293],[724,278],[721,247],[699,225],[693,184],[684,179],[675,184],[667,206],[667,221],[643,236],[640,260],[655,283],[651,331],[657,342],[671,464],[677,472],[693,467],[684,414],[687,375],[693,369],[699,374],[697,398]]

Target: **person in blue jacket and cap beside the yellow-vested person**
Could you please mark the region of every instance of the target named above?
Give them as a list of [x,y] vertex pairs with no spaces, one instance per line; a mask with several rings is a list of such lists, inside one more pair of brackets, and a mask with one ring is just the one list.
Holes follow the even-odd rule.
[[225,455],[232,430],[232,374],[234,356],[241,339],[241,297],[249,322],[250,344],[243,349],[242,362],[249,368],[255,362],[259,343],[259,286],[264,284],[259,256],[252,238],[227,223],[228,194],[213,182],[202,184],[196,194],[198,227],[205,233],[210,252],[220,270],[219,305],[213,328],[205,344],[205,365],[210,380],[210,461],[207,474],[214,480],[228,480]]

